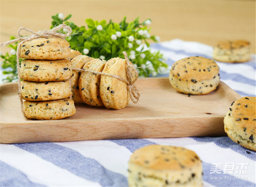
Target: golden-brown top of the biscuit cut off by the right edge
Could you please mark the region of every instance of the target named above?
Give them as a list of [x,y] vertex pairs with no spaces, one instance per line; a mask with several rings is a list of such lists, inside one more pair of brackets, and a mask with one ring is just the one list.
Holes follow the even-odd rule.
[[242,97],[236,100],[229,108],[232,111],[236,128],[247,134],[255,142],[256,130],[256,97]]

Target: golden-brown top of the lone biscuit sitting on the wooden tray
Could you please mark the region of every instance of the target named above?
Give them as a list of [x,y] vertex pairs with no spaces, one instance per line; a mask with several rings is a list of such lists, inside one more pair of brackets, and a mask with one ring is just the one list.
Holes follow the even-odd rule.
[[172,65],[170,74],[184,81],[202,81],[213,79],[219,73],[219,67],[210,58],[190,56]]

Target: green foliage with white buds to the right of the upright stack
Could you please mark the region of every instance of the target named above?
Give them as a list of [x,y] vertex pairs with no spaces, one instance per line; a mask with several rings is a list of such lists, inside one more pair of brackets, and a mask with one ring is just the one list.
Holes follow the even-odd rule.
[[[52,16],[51,29],[62,23],[70,26],[72,34],[66,40],[69,41],[71,49],[76,49],[93,58],[104,58],[105,60],[117,56],[124,58],[122,52],[126,51],[132,63],[138,67],[140,76],[144,77],[148,77],[150,74],[156,76],[160,72],[159,68],[168,67],[159,51],[151,52],[148,49],[150,47],[148,40],[157,42],[158,39],[157,36],[150,35],[150,29],[145,24],[150,19],[142,23],[139,22],[139,17],[132,22],[127,22],[124,17],[120,23],[115,23],[112,20],[107,23],[106,20],[86,19],[87,26],[78,27],[73,22],[67,21],[71,15],[64,19],[59,18],[58,15]],[[61,32],[65,33],[65,31]],[[142,43],[146,46],[141,45]]]

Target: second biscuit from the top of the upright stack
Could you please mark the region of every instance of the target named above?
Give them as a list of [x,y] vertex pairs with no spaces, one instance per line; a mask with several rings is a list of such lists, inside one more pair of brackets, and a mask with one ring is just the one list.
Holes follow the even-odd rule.
[[71,63],[61,60],[24,60],[20,67],[20,78],[25,81],[65,81],[72,76]]

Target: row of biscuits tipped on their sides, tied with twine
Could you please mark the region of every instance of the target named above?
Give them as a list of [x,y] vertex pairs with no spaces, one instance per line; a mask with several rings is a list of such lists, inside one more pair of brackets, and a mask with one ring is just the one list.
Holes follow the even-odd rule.
[[[130,65],[131,62],[128,62]],[[108,61],[94,59],[86,55],[75,56],[71,60],[72,69],[82,69],[85,72],[73,70],[71,78],[72,99],[75,103],[86,103],[90,106],[105,106],[106,108],[122,109],[127,106],[130,95],[127,84],[118,76],[127,80],[127,61],[116,57]],[[87,72],[90,71],[90,72]],[[100,75],[97,72],[104,73]],[[136,71],[131,70],[131,79],[137,78]]]

